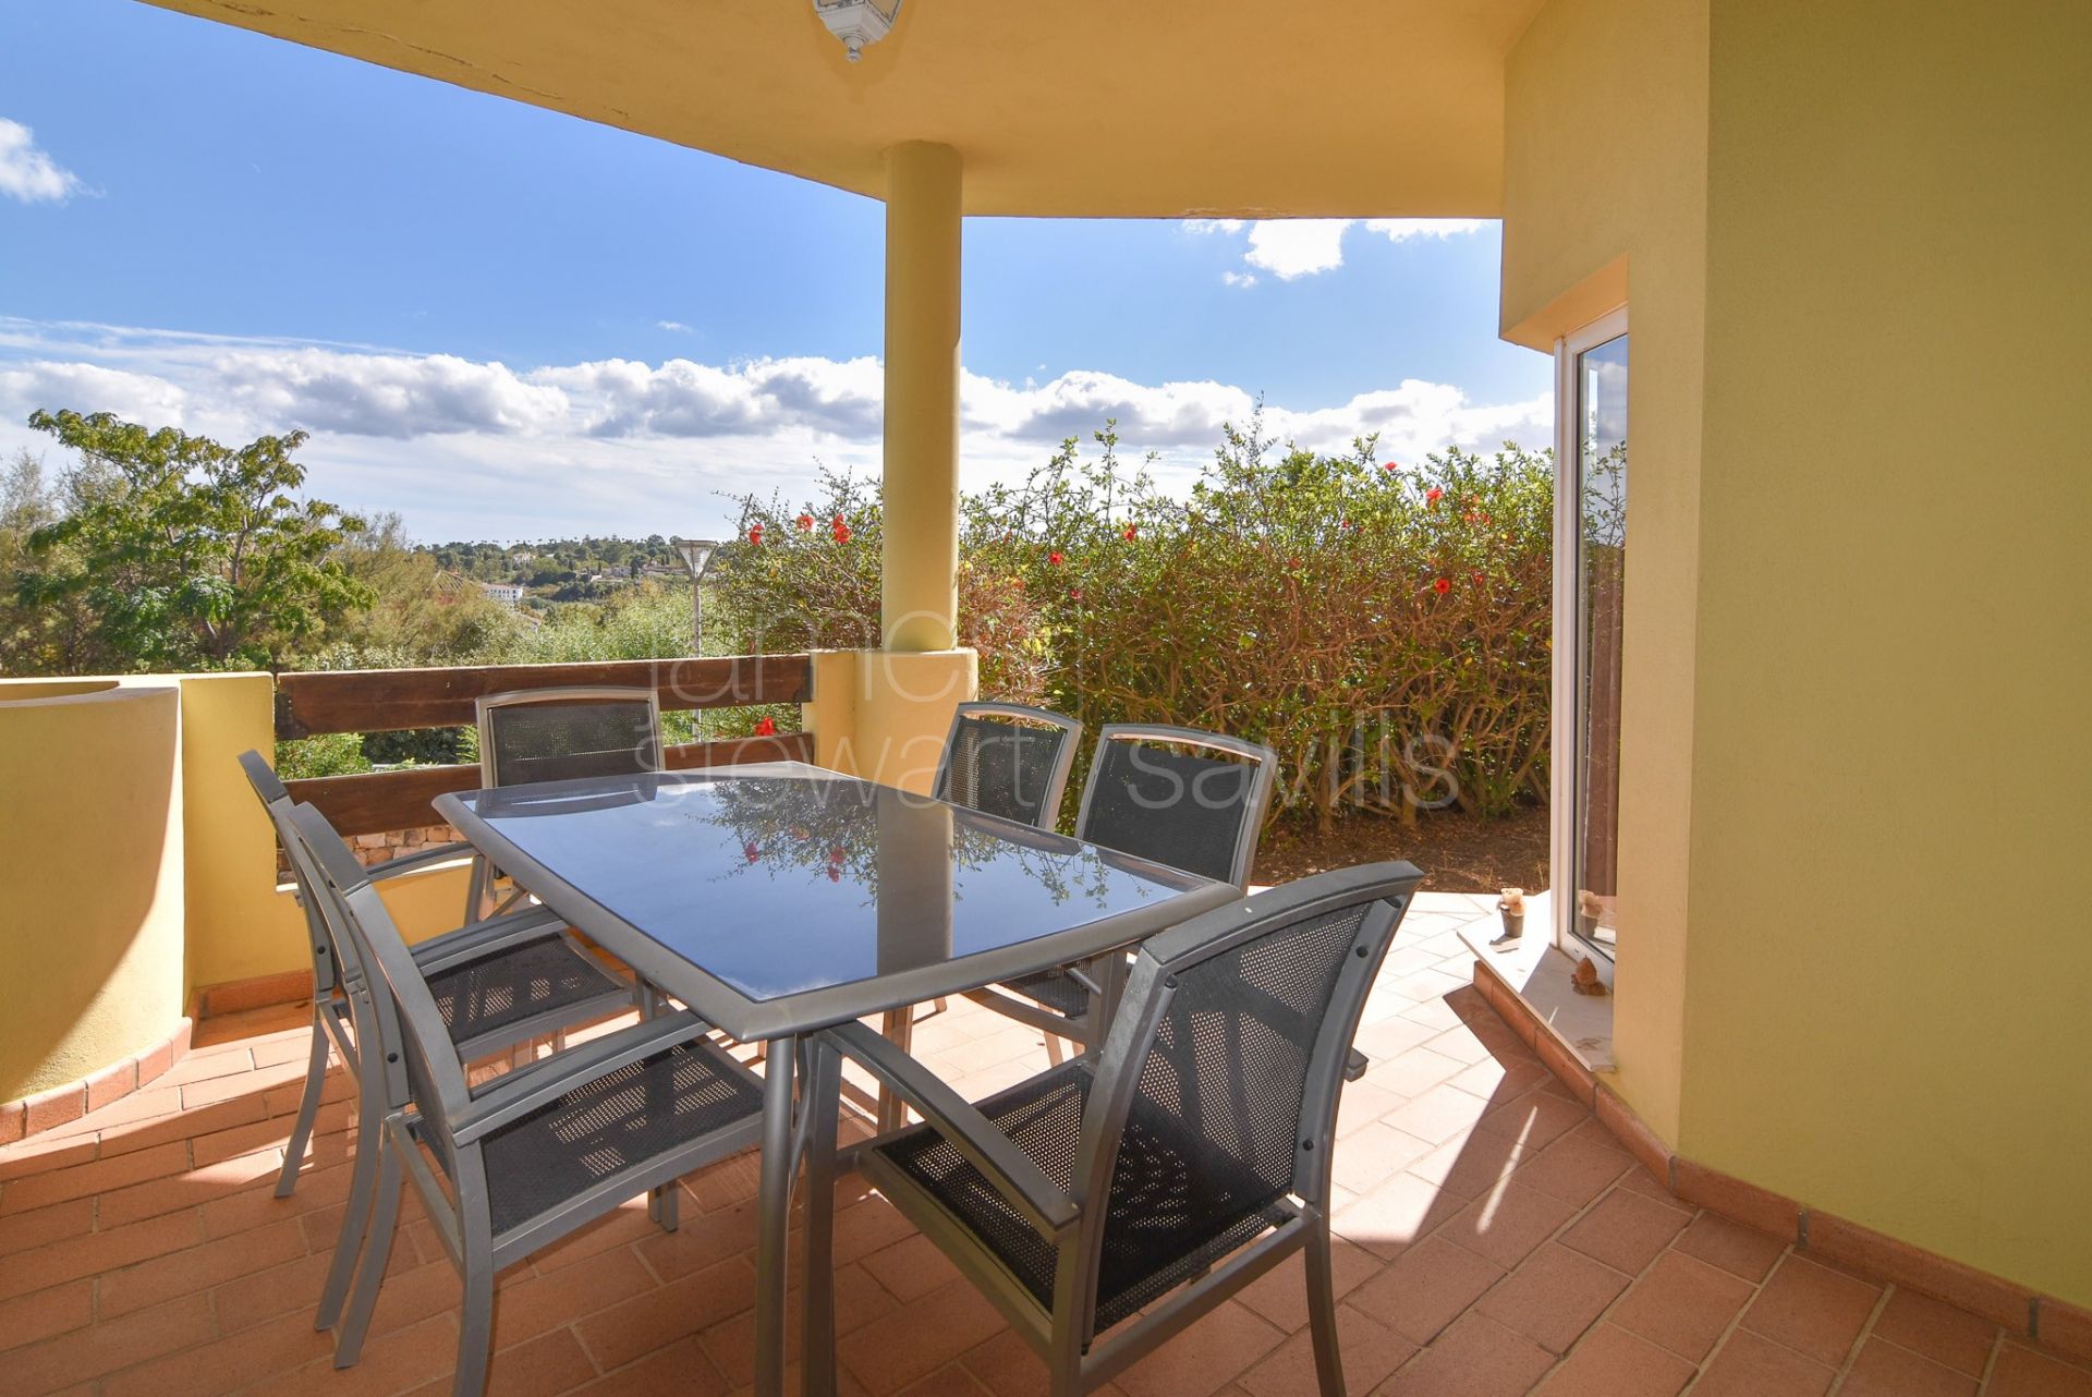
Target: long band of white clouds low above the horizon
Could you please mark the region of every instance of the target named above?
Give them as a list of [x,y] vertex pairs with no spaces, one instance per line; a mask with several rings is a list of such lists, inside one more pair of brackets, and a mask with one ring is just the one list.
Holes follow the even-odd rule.
[[[1004,383],[962,374],[969,487],[1015,481],[1063,437],[1117,418],[1128,458],[1157,452],[1182,489],[1251,389],[1186,379],[1138,383],[1096,370]],[[356,510],[400,510],[420,537],[542,537],[577,529],[705,533],[730,523],[722,491],[799,498],[816,460],[877,473],[879,360],[736,364],[594,360],[510,368],[370,345],[222,339],[0,318],[0,458],[50,450],[23,429],[33,408],[109,410],[247,441],[312,431],[312,489]],[[1456,443],[1550,435],[1546,395],[1477,404],[1406,379],[1341,404],[1268,404],[1264,429],[1316,450],[1381,433],[1397,460]]]

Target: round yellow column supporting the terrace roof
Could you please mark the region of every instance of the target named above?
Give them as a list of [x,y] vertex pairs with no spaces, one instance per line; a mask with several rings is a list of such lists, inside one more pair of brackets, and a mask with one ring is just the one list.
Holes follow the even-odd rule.
[[958,151],[887,151],[887,650],[950,650],[958,621]]

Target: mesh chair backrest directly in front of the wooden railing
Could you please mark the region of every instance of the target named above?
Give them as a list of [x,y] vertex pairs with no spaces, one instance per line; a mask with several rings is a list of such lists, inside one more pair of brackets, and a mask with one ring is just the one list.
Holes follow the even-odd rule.
[[661,770],[661,703],[651,688],[523,688],[485,694],[475,709],[487,786]]

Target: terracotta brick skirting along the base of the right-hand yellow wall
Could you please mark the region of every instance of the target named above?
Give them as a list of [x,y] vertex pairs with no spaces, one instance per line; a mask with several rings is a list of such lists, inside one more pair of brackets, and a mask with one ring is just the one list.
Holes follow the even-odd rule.
[[2092,1361],[2092,1309],[2040,1295],[1684,1159],[1657,1131],[1648,1129],[1613,1087],[1598,1081],[1575,1054],[1563,1048],[1531,1006],[1483,960],[1475,962],[1475,989],[1496,1010],[1496,1016],[1531,1046],[1546,1069],[1577,1100],[1592,1106],[1628,1154],[1672,1196],[1747,1228],[1784,1236],[1810,1257],[1868,1272],[1977,1313],[2008,1334],[2042,1343],[2079,1364]]

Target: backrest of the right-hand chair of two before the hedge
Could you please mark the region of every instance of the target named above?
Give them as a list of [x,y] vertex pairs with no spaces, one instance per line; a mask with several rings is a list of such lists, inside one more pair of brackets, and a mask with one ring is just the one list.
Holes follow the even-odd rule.
[[1249,887],[1278,753],[1151,724],[1105,724],[1082,786],[1075,839]]

